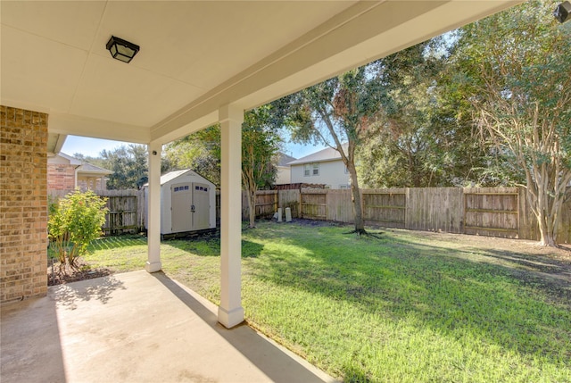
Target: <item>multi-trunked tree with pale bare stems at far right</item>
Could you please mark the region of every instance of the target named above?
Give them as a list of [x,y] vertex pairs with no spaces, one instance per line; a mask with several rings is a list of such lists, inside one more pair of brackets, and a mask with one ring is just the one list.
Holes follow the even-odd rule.
[[481,140],[523,173],[543,246],[556,246],[571,193],[571,29],[553,20],[555,5],[527,2],[461,29],[454,57]]

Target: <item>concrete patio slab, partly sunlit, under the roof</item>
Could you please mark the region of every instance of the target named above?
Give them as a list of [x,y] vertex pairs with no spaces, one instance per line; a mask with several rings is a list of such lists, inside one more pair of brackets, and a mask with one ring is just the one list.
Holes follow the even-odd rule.
[[50,287],[1,308],[0,380],[12,382],[335,381],[158,272]]

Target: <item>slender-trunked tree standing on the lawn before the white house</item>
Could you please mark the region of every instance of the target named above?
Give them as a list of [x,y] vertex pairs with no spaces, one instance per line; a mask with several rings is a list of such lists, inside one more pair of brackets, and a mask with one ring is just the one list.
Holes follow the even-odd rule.
[[375,63],[308,87],[294,97],[293,138],[320,141],[339,154],[351,177],[357,234],[367,234],[361,208],[355,150],[379,115],[380,81]]

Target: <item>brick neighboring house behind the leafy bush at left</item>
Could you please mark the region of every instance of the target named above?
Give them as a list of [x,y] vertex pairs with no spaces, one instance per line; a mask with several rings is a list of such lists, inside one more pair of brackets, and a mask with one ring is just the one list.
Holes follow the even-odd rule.
[[106,176],[112,171],[83,162],[68,154],[47,157],[47,190],[73,190],[75,187],[92,190],[107,188]]

